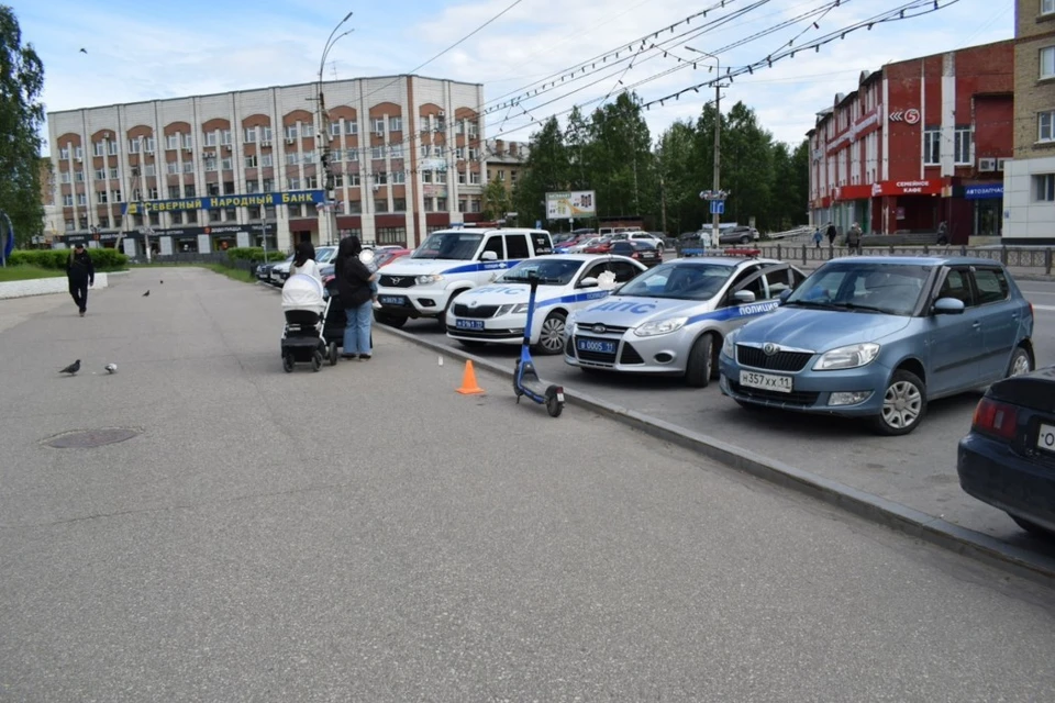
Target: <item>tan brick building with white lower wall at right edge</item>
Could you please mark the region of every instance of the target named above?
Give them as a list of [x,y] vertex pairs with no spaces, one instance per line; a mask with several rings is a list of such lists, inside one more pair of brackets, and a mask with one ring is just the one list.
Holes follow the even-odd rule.
[[1015,0],[1014,158],[1003,171],[1004,238],[1055,244],[1055,0]]

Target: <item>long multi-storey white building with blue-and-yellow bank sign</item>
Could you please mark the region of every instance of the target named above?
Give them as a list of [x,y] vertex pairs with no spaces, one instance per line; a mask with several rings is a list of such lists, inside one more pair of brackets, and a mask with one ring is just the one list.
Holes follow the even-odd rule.
[[321,88],[322,120],[318,82],[48,113],[56,244],[123,234],[166,255],[258,246],[266,231],[284,250],[347,234],[412,247],[480,219],[480,85],[391,76]]

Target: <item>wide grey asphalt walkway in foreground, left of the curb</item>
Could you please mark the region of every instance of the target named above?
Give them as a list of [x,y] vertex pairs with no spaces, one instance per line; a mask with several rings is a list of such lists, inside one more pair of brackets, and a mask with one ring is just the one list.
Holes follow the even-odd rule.
[[[0,700],[1055,690],[1050,590],[380,331],[282,373],[274,292],[158,276],[0,303]],[[103,427],[140,434],[42,444]]]

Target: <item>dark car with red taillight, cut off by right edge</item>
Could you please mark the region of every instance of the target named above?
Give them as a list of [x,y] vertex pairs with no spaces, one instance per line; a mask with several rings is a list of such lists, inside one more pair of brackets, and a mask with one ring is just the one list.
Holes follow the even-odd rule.
[[1028,372],[1017,352],[1011,378],[989,387],[959,440],[956,471],[969,495],[1055,538],[1055,367]]

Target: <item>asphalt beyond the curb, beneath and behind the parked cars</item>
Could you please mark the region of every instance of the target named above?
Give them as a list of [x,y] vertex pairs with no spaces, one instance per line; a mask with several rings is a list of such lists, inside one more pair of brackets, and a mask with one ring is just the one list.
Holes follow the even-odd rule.
[[[1055,364],[1055,283],[1020,282],[1033,303],[1034,345],[1040,366]],[[432,321],[409,321],[403,331],[460,345]],[[487,346],[471,354],[515,362],[519,347]],[[563,356],[535,355],[542,378],[581,389],[624,408],[719,437],[800,469],[897,501],[926,514],[1055,556],[1055,544],[1030,537],[1004,513],[959,488],[956,443],[970,427],[980,393],[931,404],[923,424],[904,437],[879,437],[853,421],[752,413],[721,394],[718,384],[690,389],[675,379],[584,373]]]

